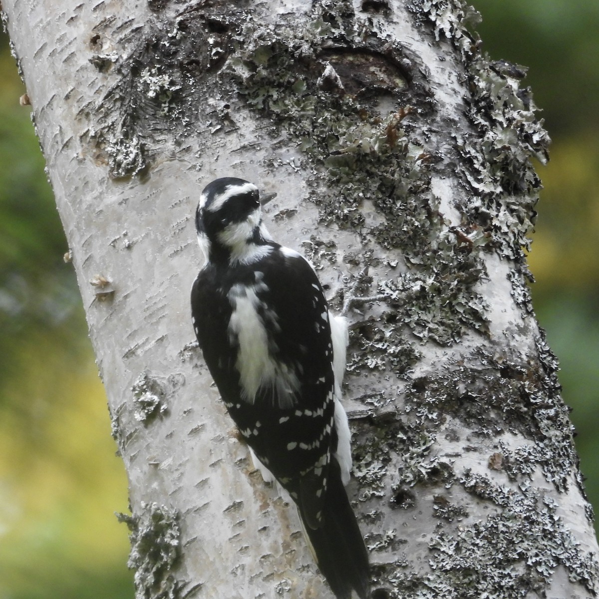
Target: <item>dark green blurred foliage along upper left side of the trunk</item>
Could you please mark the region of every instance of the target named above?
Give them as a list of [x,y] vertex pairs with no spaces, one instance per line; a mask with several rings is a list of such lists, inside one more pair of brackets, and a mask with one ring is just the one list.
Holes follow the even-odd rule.
[[[52,191],[44,176],[44,159],[19,105],[25,93],[13,58],[0,39],[0,380],[18,376],[13,343],[39,329],[52,329],[56,342],[68,343],[71,322],[80,317],[72,268],[66,268],[65,234]],[[75,325],[76,326],[76,325]],[[0,405],[4,398],[0,397]]]

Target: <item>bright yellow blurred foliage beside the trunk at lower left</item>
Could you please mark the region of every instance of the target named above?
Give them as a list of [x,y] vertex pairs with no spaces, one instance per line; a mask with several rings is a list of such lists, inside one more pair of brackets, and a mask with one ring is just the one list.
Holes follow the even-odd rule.
[[77,571],[125,570],[127,480],[89,345],[68,356],[38,335],[19,352],[3,392],[22,411],[0,420],[0,596],[50,597]]

